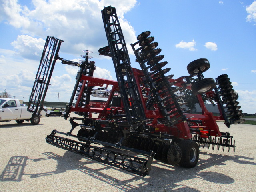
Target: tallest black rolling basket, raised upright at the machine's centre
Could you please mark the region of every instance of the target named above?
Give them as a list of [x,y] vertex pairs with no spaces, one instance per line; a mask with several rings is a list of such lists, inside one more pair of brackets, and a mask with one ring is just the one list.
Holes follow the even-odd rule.
[[108,6],[101,12],[128,124],[140,126],[146,120],[146,116],[116,9]]

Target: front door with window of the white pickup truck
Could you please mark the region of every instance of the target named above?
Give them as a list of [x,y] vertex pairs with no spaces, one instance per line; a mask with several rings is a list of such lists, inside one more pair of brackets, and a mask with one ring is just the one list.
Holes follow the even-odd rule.
[[[8,104],[9,106],[3,107]],[[1,121],[16,120],[20,118],[21,109],[17,107],[15,100],[9,100],[1,108]]]

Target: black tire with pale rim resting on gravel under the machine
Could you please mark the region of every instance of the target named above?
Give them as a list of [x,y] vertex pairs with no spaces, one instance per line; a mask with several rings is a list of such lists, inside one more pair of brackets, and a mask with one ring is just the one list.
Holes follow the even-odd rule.
[[193,140],[182,140],[179,145],[182,151],[179,165],[186,168],[196,166],[199,158],[198,144]]

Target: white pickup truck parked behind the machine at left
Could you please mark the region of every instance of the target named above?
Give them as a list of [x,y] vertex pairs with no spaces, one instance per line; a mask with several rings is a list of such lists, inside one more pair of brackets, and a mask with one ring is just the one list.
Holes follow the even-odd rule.
[[40,122],[40,117],[45,117],[46,112],[42,111],[41,116],[35,115],[27,110],[28,106],[21,106],[18,99],[0,98],[0,122],[15,120],[23,123],[25,120],[33,125]]

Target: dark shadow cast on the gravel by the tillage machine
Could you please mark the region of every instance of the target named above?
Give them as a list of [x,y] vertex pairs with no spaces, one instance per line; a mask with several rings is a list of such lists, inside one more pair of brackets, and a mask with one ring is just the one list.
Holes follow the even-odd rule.
[[[30,174],[30,177],[38,178],[52,174],[64,173],[68,170],[79,170],[90,177],[120,189],[120,191],[137,192],[139,189],[140,191],[161,190],[163,192],[198,192],[198,190],[194,188],[190,188],[178,183],[182,182],[183,180],[196,178],[198,181],[206,180],[212,183],[231,184],[234,183],[233,178],[225,175],[224,173],[207,171],[206,169],[212,166],[226,165],[225,162],[228,160],[233,160],[239,164],[256,164],[250,161],[254,160],[253,158],[248,158],[246,156],[228,156],[200,152],[200,155],[207,155],[209,158],[207,160],[200,159],[198,161],[198,165],[194,168],[187,169],[180,166],[170,166],[154,160],[150,175],[141,177],[130,172],[84,158],[83,156],[69,151],[66,151],[63,156],[54,154],[52,152],[45,152],[43,154],[46,157],[38,159],[30,159],[26,156],[11,157],[6,168],[0,175],[0,181],[21,181],[22,175],[26,175],[24,173],[24,169],[26,164],[29,164],[29,160],[39,162],[53,159],[57,161],[57,166],[54,171]],[[94,163],[98,164],[96,168]]]

